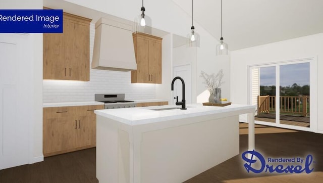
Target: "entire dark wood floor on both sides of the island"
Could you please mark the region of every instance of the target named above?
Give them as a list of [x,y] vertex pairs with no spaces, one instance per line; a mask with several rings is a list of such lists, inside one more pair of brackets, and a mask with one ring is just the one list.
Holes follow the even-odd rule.
[[[241,134],[239,155],[185,182],[323,182],[323,134],[300,131],[255,135],[256,150],[264,156],[292,158],[311,154],[315,163],[314,172],[310,174],[247,173],[241,159],[241,153],[247,150],[247,144],[248,135]],[[97,182],[95,148],[48,157],[43,162],[31,165],[0,170],[0,182]]]

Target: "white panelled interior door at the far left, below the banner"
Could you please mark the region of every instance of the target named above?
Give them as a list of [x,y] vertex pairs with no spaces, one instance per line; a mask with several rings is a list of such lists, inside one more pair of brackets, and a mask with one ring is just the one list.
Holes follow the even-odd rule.
[[[29,162],[28,35],[0,35],[0,169]],[[21,38],[21,39],[20,39]],[[29,64],[28,64],[29,63]],[[29,74],[30,75],[30,74]],[[29,86],[30,87],[30,86]],[[27,113],[27,114],[26,114]]]

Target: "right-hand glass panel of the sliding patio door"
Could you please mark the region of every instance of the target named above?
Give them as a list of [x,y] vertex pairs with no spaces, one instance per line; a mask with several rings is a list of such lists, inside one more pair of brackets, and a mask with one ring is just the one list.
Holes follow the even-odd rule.
[[279,123],[309,127],[309,63],[279,67]]

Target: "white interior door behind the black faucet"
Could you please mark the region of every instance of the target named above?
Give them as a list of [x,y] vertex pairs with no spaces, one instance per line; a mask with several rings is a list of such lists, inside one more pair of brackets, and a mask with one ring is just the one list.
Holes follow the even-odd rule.
[[[192,72],[191,64],[174,66],[173,67],[173,78],[180,76],[185,82],[185,100],[186,104],[192,103]],[[182,101],[182,82],[178,79],[174,83],[173,99],[178,96],[178,101]],[[175,104],[176,99],[173,100]]]

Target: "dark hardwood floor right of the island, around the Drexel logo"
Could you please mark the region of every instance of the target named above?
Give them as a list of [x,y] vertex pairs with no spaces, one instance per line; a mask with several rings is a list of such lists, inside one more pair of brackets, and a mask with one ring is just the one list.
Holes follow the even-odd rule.
[[200,182],[323,182],[323,134],[298,131],[255,134],[255,148],[265,157],[313,156],[313,172],[290,173],[248,173],[243,167],[241,155],[248,149],[248,135],[240,135],[240,154],[214,166],[185,183]]

